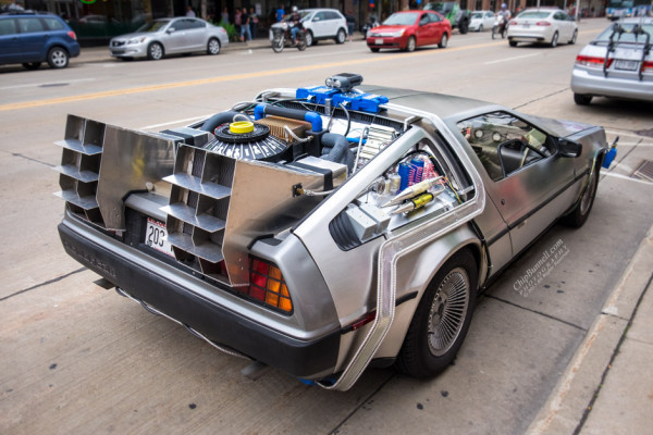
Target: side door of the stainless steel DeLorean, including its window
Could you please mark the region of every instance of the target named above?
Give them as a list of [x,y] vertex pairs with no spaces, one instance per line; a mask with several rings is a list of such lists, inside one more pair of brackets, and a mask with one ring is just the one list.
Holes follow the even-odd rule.
[[574,159],[557,152],[555,138],[507,112],[458,127],[485,169],[485,190],[507,224],[515,256],[574,202]]

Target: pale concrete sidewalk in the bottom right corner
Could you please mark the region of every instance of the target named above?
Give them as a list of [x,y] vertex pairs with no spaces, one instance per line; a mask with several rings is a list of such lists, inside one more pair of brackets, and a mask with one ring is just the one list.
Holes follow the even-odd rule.
[[645,434],[653,426],[653,226],[529,434]]

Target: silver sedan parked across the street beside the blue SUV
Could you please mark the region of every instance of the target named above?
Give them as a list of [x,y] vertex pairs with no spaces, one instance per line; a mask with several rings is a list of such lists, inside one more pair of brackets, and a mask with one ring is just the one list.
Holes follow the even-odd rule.
[[192,17],[160,18],[144,24],[133,34],[109,42],[111,55],[119,59],[163,59],[168,54],[206,51],[218,54],[229,44],[226,30]]

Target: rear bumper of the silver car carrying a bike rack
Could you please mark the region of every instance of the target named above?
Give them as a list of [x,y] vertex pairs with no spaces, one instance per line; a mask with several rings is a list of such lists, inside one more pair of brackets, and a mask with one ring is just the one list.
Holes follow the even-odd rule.
[[575,67],[571,72],[571,90],[575,94],[627,98],[653,101],[653,80],[644,76],[644,80],[624,79]]

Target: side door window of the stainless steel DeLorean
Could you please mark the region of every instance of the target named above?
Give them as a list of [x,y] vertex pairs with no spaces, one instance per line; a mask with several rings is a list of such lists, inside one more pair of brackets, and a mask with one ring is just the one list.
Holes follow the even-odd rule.
[[544,132],[506,112],[486,113],[457,126],[494,182],[555,153]]

